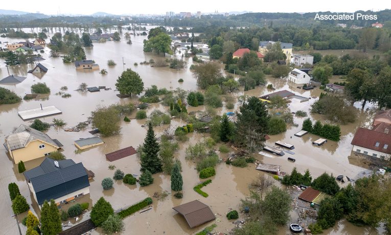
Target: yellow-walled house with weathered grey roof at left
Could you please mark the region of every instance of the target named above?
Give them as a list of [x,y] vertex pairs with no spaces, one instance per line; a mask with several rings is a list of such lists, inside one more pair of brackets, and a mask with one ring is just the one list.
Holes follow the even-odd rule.
[[57,139],[24,124],[7,136],[3,145],[15,164],[47,156],[62,147]]

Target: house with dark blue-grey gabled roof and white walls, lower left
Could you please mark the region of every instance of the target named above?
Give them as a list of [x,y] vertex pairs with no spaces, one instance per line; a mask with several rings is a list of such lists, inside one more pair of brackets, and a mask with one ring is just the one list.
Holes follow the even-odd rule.
[[83,163],[46,157],[41,165],[23,173],[39,207],[53,199],[57,205],[89,194],[88,174]]

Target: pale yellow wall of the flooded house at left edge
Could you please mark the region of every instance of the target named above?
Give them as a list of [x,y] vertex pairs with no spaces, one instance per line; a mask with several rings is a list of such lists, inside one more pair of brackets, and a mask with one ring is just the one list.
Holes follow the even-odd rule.
[[[40,149],[40,145],[44,145],[45,147]],[[20,160],[24,162],[33,160],[39,157],[43,157],[47,153],[57,151],[57,149],[59,149],[57,146],[55,147],[49,143],[42,142],[41,140],[34,140],[27,144],[25,148],[10,151],[10,155],[13,158],[14,163],[17,164]]]

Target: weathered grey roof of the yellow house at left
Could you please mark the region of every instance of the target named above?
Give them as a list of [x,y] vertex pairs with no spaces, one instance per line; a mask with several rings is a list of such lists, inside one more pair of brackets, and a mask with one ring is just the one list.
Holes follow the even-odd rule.
[[49,135],[24,124],[21,124],[18,128],[16,128],[13,134],[10,134],[6,137],[6,142],[8,143],[11,151],[25,148],[30,142],[34,140],[41,140],[42,142],[46,142],[53,146],[58,146],[56,142],[54,142],[54,140],[49,137]]

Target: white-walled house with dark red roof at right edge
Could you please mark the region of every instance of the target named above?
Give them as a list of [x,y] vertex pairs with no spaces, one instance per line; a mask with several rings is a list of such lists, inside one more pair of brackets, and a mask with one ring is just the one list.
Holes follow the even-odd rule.
[[391,157],[391,132],[387,128],[384,128],[383,132],[377,130],[359,127],[351,143],[353,151],[389,160]]

